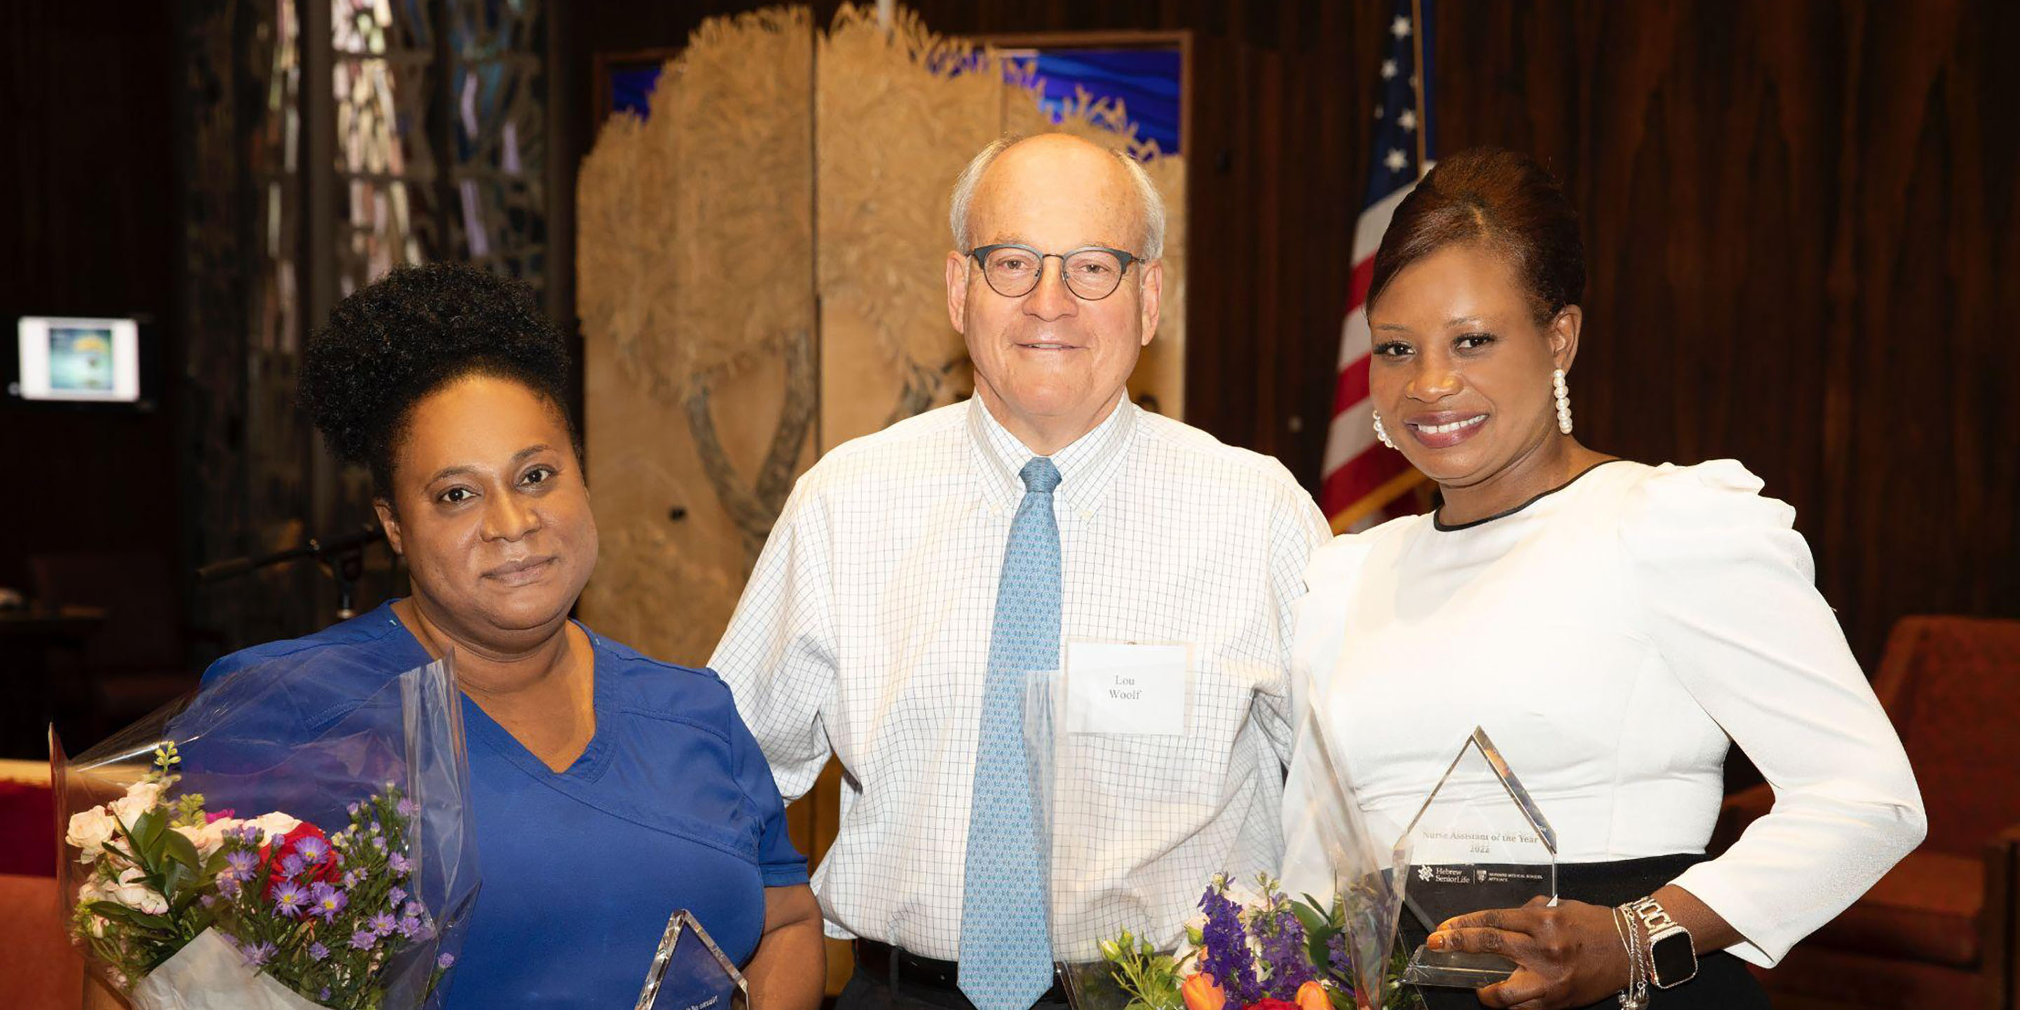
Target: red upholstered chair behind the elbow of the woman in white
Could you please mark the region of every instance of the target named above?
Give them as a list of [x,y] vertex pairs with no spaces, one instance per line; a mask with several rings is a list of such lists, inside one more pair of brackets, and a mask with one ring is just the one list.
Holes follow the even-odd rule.
[[[2020,620],[1901,618],[1873,689],[1915,764],[1929,838],[1759,976],[1778,1006],[2016,1010]],[[1721,840],[1772,804],[1768,786],[1727,798]]]

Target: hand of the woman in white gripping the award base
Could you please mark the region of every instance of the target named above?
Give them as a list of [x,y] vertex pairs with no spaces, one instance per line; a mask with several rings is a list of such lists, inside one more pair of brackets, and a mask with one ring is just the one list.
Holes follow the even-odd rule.
[[1519,968],[1479,990],[1481,1004],[1513,1010],[1586,1006],[1628,984],[1632,966],[1614,909],[1537,897],[1519,909],[1458,915],[1438,925],[1434,951],[1499,953]]

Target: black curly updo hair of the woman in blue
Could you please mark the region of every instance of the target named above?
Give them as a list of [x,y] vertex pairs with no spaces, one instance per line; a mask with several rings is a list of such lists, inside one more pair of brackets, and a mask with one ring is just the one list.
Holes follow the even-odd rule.
[[525,384],[562,416],[580,457],[568,368],[568,341],[523,283],[467,263],[398,267],[339,301],[309,337],[295,402],[331,454],[366,465],[374,495],[390,499],[414,404],[467,376]]

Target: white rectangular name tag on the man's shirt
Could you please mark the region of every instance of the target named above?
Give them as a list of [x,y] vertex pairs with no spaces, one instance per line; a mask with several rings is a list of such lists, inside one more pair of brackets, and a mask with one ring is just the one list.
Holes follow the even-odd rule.
[[1067,642],[1067,731],[1176,737],[1186,731],[1192,646]]

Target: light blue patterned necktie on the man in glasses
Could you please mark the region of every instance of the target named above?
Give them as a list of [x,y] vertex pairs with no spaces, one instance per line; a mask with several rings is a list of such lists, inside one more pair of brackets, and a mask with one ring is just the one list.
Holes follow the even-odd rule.
[[1018,471],[1024,501],[996,580],[982,743],[968,814],[960,984],[978,1010],[1026,1010],[1052,988],[1038,824],[1024,762],[1024,677],[1058,667],[1058,469],[1036,457]]

